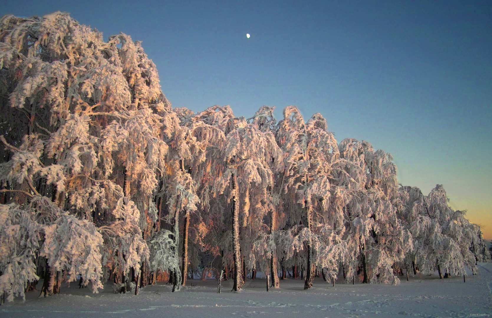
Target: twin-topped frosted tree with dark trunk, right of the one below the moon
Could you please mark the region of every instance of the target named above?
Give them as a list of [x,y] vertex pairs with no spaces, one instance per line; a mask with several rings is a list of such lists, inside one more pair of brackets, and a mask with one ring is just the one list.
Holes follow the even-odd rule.
[[[288,213],[292,237],[290,250],[307,245],[305,289],[312,287],[316,265],[333,270],[343,254],[342,218],[329,213],[333,166],[338,159],[337,142],[326,120],[314,114],[306,123],[296,107],[283,110],[277,143],[285,153],[280,187],[284,211]],[[339,210],[332,210],[339,212]],[[305,225],[300,227],[298,224]],[[334,236],[335,235],[335,236]],[[283,240],[289,242],[289,240]],[[285,247],[282,249],[285,250]],[[292,256],[293,254],[290,254]]]

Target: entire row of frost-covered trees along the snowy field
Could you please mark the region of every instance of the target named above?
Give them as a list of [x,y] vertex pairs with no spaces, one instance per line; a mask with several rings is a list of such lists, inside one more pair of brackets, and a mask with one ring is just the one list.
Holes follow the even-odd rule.
[[[403,270],[477,273],[480,227],[402,186],[392,156],[337,142],[327,120],[295,106],[251,118],[229,106],[172,108],[139,41],[66,13],[0,20],[0,294],[93,292],[170,275],[224,271],[272,286],[302,272],[399,283]],[[248,274],[249,275],[249,274]]]

